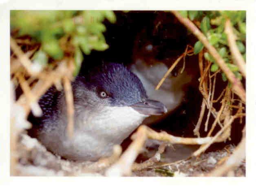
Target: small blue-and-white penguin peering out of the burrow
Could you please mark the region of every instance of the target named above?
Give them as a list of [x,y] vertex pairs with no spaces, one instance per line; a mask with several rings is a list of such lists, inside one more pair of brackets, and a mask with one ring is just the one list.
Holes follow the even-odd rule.
[[33,118],[35,136],[47,149],[71,160],[95,161],[110,156],[112,147],[127,138],[149,115],[167,111],[148,99],[139,78],[117,63],[90,69],[72,82],[74,134],[66,135],[63,91],[51,87],[39,101],[43,116]]

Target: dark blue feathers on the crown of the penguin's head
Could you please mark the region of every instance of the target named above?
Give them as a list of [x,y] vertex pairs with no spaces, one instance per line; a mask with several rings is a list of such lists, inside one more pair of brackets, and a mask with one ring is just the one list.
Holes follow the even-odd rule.
[[84,76],[89,90],[105,91],[111,106],[130,106],[148,98],[139,78],[124,65],[107,63]]

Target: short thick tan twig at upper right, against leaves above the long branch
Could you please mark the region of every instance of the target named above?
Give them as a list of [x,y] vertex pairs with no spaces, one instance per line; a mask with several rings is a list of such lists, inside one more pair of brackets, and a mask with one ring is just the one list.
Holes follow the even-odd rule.
[[236,45],[236,36],[232,31],[232,25],[231,25],[230,19],[227,19],[225,23],[225,33],[227,34],[227,41],[230,47],[230,52],[234,58],[234,63],[236,63],[236,65],[238,66],[243,77],[246,77],[245,61]]

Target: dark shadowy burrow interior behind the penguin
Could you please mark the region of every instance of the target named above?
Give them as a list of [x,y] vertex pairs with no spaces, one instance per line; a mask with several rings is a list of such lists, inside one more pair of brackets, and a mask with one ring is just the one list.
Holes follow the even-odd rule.
[[[132,67],[138,61],[145,63],[145,66],[153,66],[161,62],[168,69],[174,61],[183,53],[187,45],[194,46],[197,39],[189,32],[179,21],[170,13],[165,11],[115,11],[117,22],[110,24],[104,21],[106,32],[104,36],[106,43],[109,45],[108,50],[98,52],[93,50],[89,56],[84,56],[81,73],[88,69],[88,66],[96,66],[102,62],[123,63],[127,67]],[[172,78],[177,77],[183,67],[183,60],[177,64],[171,73]],[[166,70],[167,70],[166,69]],[[154,119],[154,121],[144,121],[148,126],[156,131],[166,131],[174,136],[195,137],[193,130],[198,121],[201,111],[202,94],[199,91],[199,63],[198,56],[185,57],[185,69],[190,76],[190,82],[183,84],[183,97],[179,105],[167,116]],[[164,72],[165,73],[165,72]],[[163,73],[163,74],[164,74]],[[158,83],[160,81],[157,80]],[[156,84],[157,85],[157,84]],[[156,86],[155,85],[155,86]],[[220,74],[216,78],[215,96],[218,97],[227,82],[223,82]],[[174,85],[172,89],[175,89]],[[172,86],[171,86],[172,87]],[[171,89],[171,90],[172,90]],[[172,96],[170,96],[172,97]],[[214,104],[216,109],[220,108],[220,104]],[[203,117],[200,135],[207,136],[204,131],[204,123],[207,118],[207,110]],[[245,118],[243,118],[243,122]],[[208,130],[214,122],[214,117],[210,117]],[[234,121],[231,131],[231,140],[225,143],[212,144],[208,151],[216,151],[223,149],[225,145],[237,145],[241,140],[241,130],[243,124],[239,123],[239,119]],[[217,127],[213,135],[220,130]],[[127,138],[123,143],[123,149],[126,149],[130,144],[130,138]],[[143,156],[139,156],[137,161],[145,160]]]

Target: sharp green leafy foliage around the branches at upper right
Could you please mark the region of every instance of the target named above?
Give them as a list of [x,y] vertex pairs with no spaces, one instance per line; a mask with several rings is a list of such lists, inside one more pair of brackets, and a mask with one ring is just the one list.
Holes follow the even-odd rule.
[[[198,22],[200,30],[207,37],[211,45],[216,48],[220,56],[227,63],[227,66],[234,72],[236,77],[241,80],[241,73],[238,71],[238,67],[232,64],[232,57],[227,43],[227,36],[224,32],[225,21],[230,19],[233,31],[237,37],[236,45],[245,59],[245,34],[246,34],[246,12],[245,11],[180,11],[183,17],[188,17],[193,22]],[[198,54],[203,50],[203,44],[197,41],[194,44],[194,54]],[[219,69],[215,63],[214,58],[208,53],[204,53],[204,58],[207,61],[212,62],[211,71],[215,72]],[[223,81],[227,78],[222,73]]]

